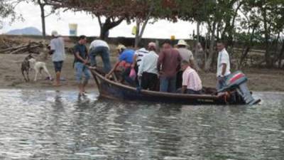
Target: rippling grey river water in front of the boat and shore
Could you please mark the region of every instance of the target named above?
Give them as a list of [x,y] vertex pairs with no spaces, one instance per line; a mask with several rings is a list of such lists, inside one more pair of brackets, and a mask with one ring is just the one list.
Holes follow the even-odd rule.
[[0,159],[284,159],[284,93],[190,106],[0,90]]

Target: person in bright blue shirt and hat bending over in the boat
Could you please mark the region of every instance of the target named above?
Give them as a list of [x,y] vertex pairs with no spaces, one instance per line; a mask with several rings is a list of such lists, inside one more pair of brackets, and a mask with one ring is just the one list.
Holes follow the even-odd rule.
[[129,78],[129,73],[131,71],[131,64],[133,63],[133,56],[135,51],[131,49],[127,49],[124,45],[117,46],[116,50],[119,52],[119,59],[114,65],[114,68],[109,71],[109,73],[106,75],[106,78],[109,78],[112,73],[114,73],[114,70],[121,64],[121,62],[124,62],[124,68],[122,70],[121,76],[123,82],[124,80],[129,83],[129,85],[135,85],[135,82]]

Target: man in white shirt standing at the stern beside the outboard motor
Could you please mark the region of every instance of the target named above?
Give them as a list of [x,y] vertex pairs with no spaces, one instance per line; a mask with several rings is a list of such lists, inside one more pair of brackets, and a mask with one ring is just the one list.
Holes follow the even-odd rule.
[[229,54],[226,51],[224,43],[217,43],[218,62],[217,62],[217,90],[224,87],[226,78],[231,74],[230,72],[230,59]]

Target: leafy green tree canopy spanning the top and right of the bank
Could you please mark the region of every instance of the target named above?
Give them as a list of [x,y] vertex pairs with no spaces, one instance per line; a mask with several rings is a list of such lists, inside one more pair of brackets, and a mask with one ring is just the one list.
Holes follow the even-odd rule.
[[[16,0],[15,0],[16,1]],[[19,0],[21,1],[21,0]],[[25,0],[35,1],[35,0]],[[200,25],[207,28],[206,38],[209,48],[207,68],[214,58],[214,43],[220,39],[234,48],[234,43],[244,44],[250,50],[253,42],[265,44],[266,65],[280,60],[284,52],[279,51],[284,29],[283,0],[41,0],[53,9],[85,11],[97,17],[101,28],[101,38],[107,37],[109,29],[122,21],[148,23],[149,18],[179,19],[197,22],[197,35]],[[0,16],[15,15],[13,8],[0,1]],[[102,19],[104,18],[104,21]],[[141,38],[143,29],[137,39]],[[186,26],[185,26],[186,27]],[[197,38],[197,41],[199,39]],[[205,47],[205,46],[204,46]],[[207,48],[206,47],[206,48]],[[244,51],[246,58],[247,51]],[[243,58],[243,59],[244,59]]]

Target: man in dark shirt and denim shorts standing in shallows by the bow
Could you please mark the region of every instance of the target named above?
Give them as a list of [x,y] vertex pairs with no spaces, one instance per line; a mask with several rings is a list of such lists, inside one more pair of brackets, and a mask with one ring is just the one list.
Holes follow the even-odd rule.
[[[91,73],[89,72],[89,68],[87,67],[87,63],[89,63],[89,55],[87,53],[87,47],[85,44],[87,43],[86,36],[80,36],[79,41],[74,47],[75,49],[75,70],[76,70],[76,80],[79,85],[79,95],[85,95],[85,87],[91,78]],[[84,81],[82,82],[82,74],[84,73]]]

